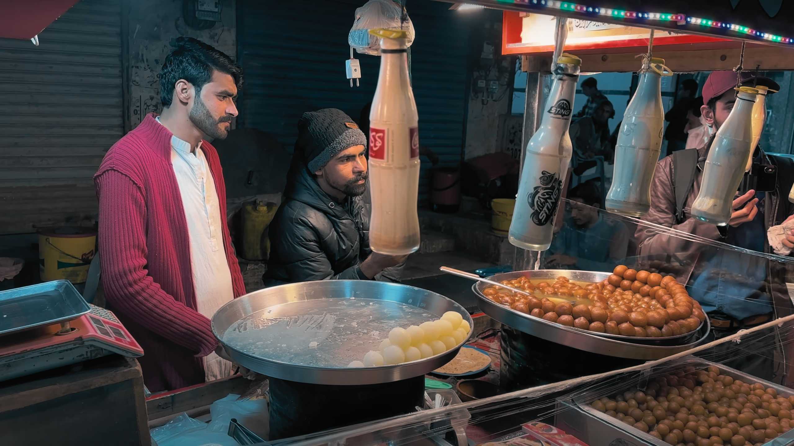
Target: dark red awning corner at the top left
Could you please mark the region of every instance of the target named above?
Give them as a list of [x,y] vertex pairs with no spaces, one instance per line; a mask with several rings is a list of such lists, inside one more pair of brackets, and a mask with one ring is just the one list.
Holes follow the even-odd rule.
[[78,0],[6,0],[0,15],[0,37],[33,39]]

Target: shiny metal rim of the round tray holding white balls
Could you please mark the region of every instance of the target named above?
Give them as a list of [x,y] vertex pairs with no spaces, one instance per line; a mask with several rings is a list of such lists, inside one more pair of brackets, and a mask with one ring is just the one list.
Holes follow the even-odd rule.
[[[323,298],[368,298],[411,305],[435,317],[446,311],[461,313],[471,330],[468,336],[454,348],[430,358],[418,359],[409,363],[384,365],[378,367],[318,367],[284,363],[275,359],[250,355],[225,343],[222,334],[233,323],[249,314],[259,312],[285,302],[313,300],[312,293],[322,293]],[[334,297],[330,295],[337,293]],[[264,306],[264,301],[269,305]],[[212,317],[212,332],[223,345],[233,363],[249,368],[265,376],[272,376],[298,383],[353,386],[366,384],[391,383],[415,376],[426,375],[438,367],[449,363],[461,347],[468,342],[474,332],[474,321],[463,306],[441,294],[400,283],[386,283],[367,280],[318,280],[313,282],[288,283],[256,290],[234,299],[222,306]]]

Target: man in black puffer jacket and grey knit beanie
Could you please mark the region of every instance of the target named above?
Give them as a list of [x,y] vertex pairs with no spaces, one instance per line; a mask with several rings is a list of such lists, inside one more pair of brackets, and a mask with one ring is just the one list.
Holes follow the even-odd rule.
[[366,145],[364,133],[341,110],[303,113],[284,202],[269,228],[265,286],[399,280],[407,256],[383,256],[369,248]]

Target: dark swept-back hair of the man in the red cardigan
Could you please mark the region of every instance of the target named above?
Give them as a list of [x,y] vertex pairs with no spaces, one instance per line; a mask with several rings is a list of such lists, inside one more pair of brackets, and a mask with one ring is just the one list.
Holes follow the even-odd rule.
[[179,79],[193,84],[196,94],[212,79],[212,72],[231,75],[239,90],[243,83],[243,71],[225,53],[192,37],[178,37],[176,48],[165,58],[160,70],[160,102],[171,106],[174,86]]

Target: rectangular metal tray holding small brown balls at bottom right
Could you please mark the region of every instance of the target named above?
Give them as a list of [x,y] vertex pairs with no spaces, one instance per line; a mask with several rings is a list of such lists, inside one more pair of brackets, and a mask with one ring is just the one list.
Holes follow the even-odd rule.
[[[708,367],[716,366],[722,371],[723,375],[728,375],[734,379],[742,379],[746,383],[761,383],[766,387],[772,387],[777,390],[778,394],[783,396],[791,396],[794,390],[788,387],[781,386],[775,383],[769,383],[763,379],[758,379],[752,375],[747,375],[742,371],[735,370],[730,367],[725,367],[719,363],[712,363],[705,359],[696,358],[695,356],[687,356],[680,359],[682,366],[692,365],[692,367]],[[626,386],[622,390],[616,390],[614,394],[619,394],[625,390],[629,390],[632,386]],[[663,440],[650,436],[639,429],[634,429],[634,426],[627,425],[606,413],[599,412],[589,406],[589,402],[595,400],[595,393],[590,392],[583,394],[578,398],[557,400],[557,416],[555,425],[565,430],[565,432],[576,436],[582,441],[587,442],[590,446],[615,446],[621,444],[623,446],[643,446],[651,444],[653,446],[669,446]],[[794,429],[787,433],[777,436],[773,440],[764,444],[764,446],[786,446],[794,444]]]

